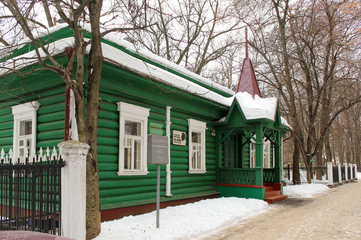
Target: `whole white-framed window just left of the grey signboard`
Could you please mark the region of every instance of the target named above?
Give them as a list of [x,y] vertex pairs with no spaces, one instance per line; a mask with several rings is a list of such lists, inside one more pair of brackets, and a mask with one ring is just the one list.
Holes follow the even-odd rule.
[[120,175],[147,175],[147,128],[149,109],[119,102]]

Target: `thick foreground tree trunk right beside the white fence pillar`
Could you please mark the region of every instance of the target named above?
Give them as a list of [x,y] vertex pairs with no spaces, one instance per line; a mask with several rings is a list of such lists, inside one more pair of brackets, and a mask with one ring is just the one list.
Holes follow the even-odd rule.
[[100,11],[103,1],[93,0],[89,4],[90,24],[92,30],[92,44],[86,66],[88,79],[86,131],[87,142],[90,145],[87,155],[87,215],[86,239],[93,239],[100,233],[100,199],[99,175],[97,166],[97,121],[101,109],[99,105],[99,85],[103,52],[99,29]]

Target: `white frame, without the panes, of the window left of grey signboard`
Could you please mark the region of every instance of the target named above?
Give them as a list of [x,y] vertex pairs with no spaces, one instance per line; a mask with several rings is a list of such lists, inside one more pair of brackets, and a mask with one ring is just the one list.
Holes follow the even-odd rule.
[[[118,102],[119,111],[119,165],[118,165],[118,176],[129,176],[129,175],[147,175],[147,133],[148,133],[148,108],[139,107],[133,104]],[[124,169],[124,128],[125,120],[140,122],[140,131],[142,139],[141,141],[141,158],[140,158],[140,170]]]

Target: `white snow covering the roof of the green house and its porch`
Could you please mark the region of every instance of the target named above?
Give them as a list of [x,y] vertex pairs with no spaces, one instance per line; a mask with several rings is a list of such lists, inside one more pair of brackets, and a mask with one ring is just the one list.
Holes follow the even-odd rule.
[[[61,25],[64,24],[58,25],[57,30],[61,28]],[[65,24],[65,26],[67,25]],[[54,30],[54,28],[52,30]],[[49,30],[49,32],[51,32],[51,30]],[[119,39],[115,40],[117,37],[114,35],[107,34],[106,36],[109,41],[116,42],[117,44],[120,42],[122,46],[126,47],[127,49],[132,49],[136,51],[134,45],[132,45],[130,42]],[[27,41],[29,41],[29,39]],[[27,41],[22,40],[21,43],[24,44]],[[57,40],[45,47],[48,49],[49,53],[51,53],[51,55],[54,56],[64,52],[66,47],[73,45],[74,45],[74,38],[69,37],[69,38]],[[244,116],[247,120],[262,119],[262,118],[267,118],[273,121],[275,120],[275,113],[277,110],[277,98],[260,98],[259,96],[255,95],[255,98],[253,99],[252,95],[250,95],[248,92],[238,92],[234,96],[226,98],[212,90],[206,89],[205,87],[198,85],[195,82],[187,80],[174,73],[168,72],[160,67],[156,67],[151,63],[146,63],[138,58],[135,58],[127,54],[126,52],[117,49],[116,47],[102,43],[102,49],[103,49],[104,61],[119,65],[120,67],[129,69],[130,71],[138,73],[142,76],[146,76],[158,82],[165,83],[166,85],[176,87],[177,89],[181,89],[185,92],[190,92],[192,94],[201,96],[205,99],[214,101],[215,103],[222,104],[225,107],[231,107],[232,102],[235,99],[238,102],[239,106],[241,107],[242,112],[244,113]],[[89,50],[90,50],[90,45],[86,49],[87,54],[89,53]],[[41,49],[39,49],[39,51],[42,58],[45,58],[46,57],[45,53]],[[139,50],[137,51],[139,53]],[[147,56],[151,60],[154,59],[154,61],[158,61],[159,63],[167,64],[167,68],[177,69],[178,67],[180,67],[177,64],[166,61],[165,59],[160,58],[155,54],[151,54],[148,52],[147,55],[145,54],[145,50],[144,51],[142,50],[141,52],[143,53],[144,56]],[[5,62],[2,62],[1,65],[3,66],[3,68],[0,69],[0,74],[4,74],[8,72],[9,70],[6,68],[11,69],[12,67],[16,66],[16,69],[20,69],[28,65],[34,64],[36,62],[38,62],[38,59],[36,58],[35,50],[30,51],[29,53],[25,53],[21,56],[17,56]],[[194,73],[188,71],[187,69],[184,70],[183,69],[184,68],[182,68],[181,70],[184,71],[184,73],[187,73],[193,79],[195,78],[193,77]],[[180,69],[177,69],[177,72],[179,72],[178,70]],[[194,75],[199,77],[199,79],[202,78],[197,74]],[[205,82],[210,83],[209,80],[205,78],[204,80]],[[222,118],[218,122],[223,122],[224,120],[225,118]],[[287,127],[290,127],[290,125],[288,125],[287,121],[284,118],[281,117],[281,121],[282,124],[286,125]]]

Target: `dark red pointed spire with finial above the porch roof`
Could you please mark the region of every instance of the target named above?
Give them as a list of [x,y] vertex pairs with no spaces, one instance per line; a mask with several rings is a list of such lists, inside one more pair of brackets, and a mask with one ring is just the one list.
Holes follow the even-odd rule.
[[260,88],[258,87],[258,82],[256,79],[255,71],[253,70],[251,59],[248,57],[248,37],[247,37],[247,28],[245,28],[245,50],[246,57],[243,59],[242,70],[239,76],[236,93],[237,92],[248,92],[255,98],[257,94],[261,96]]

